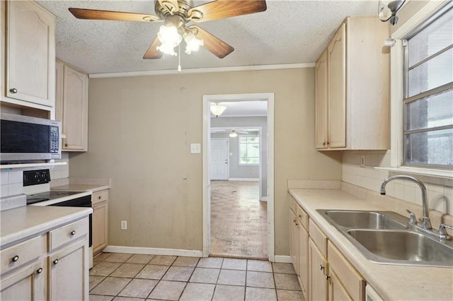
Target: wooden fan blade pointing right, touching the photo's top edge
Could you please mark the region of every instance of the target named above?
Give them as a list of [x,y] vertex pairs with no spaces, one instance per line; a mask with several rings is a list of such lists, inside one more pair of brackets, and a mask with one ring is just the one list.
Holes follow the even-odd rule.
[[265,11],[267,8],[266,1],[226,1],[218,0],[212,1],[207,4],[195,6],[190,8],[188,16],[192,13],[197,14],[197,11],[202,13],[200,20],[192,19],[195,22],[206,22],[210,20],[218,20],[223,18],[229,18],[234,16],[247,15],[249,13],[260,13]]

